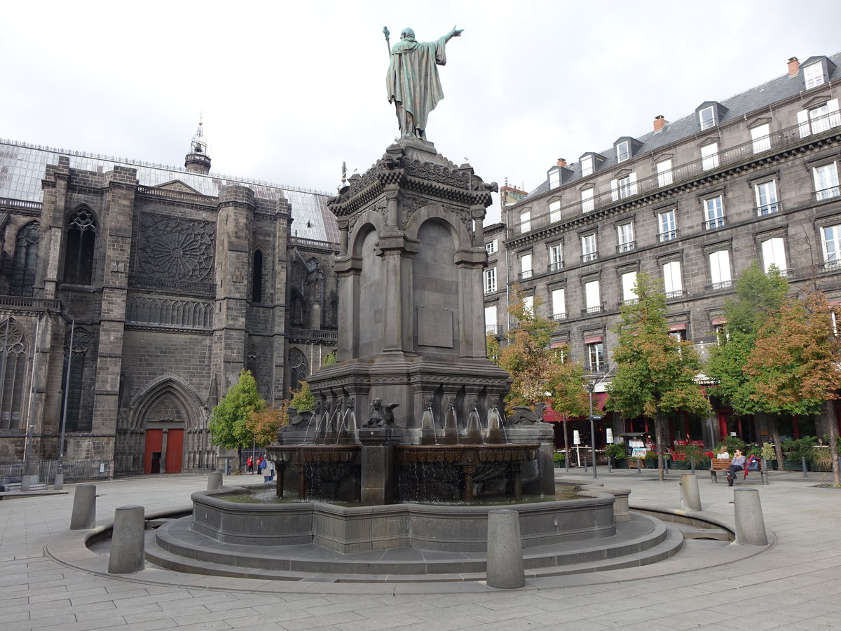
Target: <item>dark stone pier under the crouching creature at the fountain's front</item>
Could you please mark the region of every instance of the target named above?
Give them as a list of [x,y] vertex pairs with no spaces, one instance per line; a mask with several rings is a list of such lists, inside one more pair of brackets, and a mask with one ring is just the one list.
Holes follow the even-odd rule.
[[362,493],[363,506],[391,504],[394,501],[394,445],[403,434],[393,427],[360,427],[362,443]]

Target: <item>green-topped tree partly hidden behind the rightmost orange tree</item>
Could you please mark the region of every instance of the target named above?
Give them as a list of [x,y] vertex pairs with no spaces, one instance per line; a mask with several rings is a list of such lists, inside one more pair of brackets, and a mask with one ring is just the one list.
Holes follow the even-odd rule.
[[[736,300],[727,300],[724,305],[726,323],[719,333],[718,346],[711,350],[705,372],[717,382],[714,393],[739,415],[774,411],[773,406],[756,398],[756,384],[744,367],[759,330],[779,312],[788,291],[788,280],[780,270],[772,266],[764,273],[754,262],[736,281]],[[776,423],[772,423],[772,428],[777,458],[782,459],[779,428]]]

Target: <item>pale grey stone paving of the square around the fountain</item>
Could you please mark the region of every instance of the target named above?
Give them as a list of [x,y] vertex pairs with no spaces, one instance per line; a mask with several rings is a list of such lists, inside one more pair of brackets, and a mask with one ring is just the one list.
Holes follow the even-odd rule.
[[[680,508],[677,474],[664,483],[644,471],[599,475],[606,486],[630,488],[632,506]],[[580,469],[570,477],[591,480]],[[0,629],[839,628],[841,490],[817,487],[827,478],[772,472],[767,486],[757,476],[740,481],[758,485],[775,541],[737,563],[697,569],[696,544],[647,568],[529,581],[513,591],[81,571],[45,554],[48,540],[68,535],[76,485],[66,485],[66,495],[0,501]],[[258,482],[257,475],[225,478],[225,485]],[[733,523],[733,489],[711,484],[704,472],[699,485],[703,512]],[[206,486],[204,475],[100,481],[97,523],[113,521],[118,506],[145,506],[147,514],[188,506]]]

